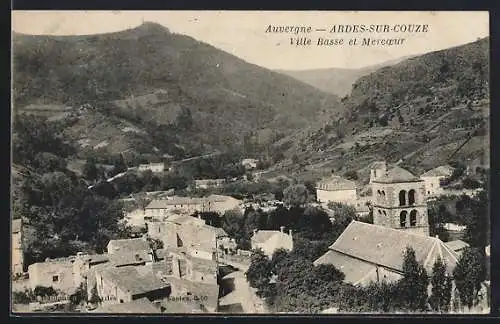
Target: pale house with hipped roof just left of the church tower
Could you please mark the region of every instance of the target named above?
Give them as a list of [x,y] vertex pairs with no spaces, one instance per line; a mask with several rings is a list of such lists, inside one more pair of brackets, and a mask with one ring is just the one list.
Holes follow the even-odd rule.
[[356,183],[339,176],[330,176],[316,185],[316,199],[320,203],[338,202],[355,204],[357,200]]

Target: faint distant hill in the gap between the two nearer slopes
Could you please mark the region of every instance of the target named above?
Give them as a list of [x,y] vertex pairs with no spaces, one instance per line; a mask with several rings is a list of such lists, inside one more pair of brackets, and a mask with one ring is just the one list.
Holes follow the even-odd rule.
[[397,64],[407,58],[399,58],[359,69],[326,68],[297,71],[277,70],[276,72],[291,76],[322,91],[344,97],[351,92],[352,85],[360,77],[368,75],[382,67]]

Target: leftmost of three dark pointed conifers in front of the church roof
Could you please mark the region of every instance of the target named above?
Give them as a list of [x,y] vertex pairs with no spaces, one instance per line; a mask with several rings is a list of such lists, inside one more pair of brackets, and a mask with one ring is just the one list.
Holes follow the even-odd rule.
[[399,281],[399,292],[403,304],[410,311],[425,311],[429,278],[425,268],[417,262],[415,250],[407,247],[403,258],[403,278]]

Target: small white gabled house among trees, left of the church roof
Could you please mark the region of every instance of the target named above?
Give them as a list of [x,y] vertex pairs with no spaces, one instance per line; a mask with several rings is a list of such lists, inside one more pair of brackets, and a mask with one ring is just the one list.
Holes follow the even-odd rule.
[[292,230],[284,232],[281,226],[279,231],[254,230],[250,238],[252,249],[262,249],[265,255],[271,257],[277,249],[293,250]]

